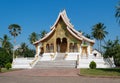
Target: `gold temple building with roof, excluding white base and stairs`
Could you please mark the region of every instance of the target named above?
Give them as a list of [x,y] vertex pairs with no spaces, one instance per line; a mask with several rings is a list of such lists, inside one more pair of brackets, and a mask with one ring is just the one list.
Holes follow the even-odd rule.
[[50,28],[51,31],[39,41],[34,42],[36,54],[44,53],[79,53],[81,56],[92,54],[94,40],[82,35],[74,26],[63,10]]

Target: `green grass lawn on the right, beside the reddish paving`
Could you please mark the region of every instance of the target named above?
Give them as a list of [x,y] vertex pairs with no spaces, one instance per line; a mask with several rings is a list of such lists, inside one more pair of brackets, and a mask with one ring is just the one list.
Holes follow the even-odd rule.
[[120,77],[120,68],[97,68],[97,69],[80,69],[80,75],[83,76],[113,76]]

